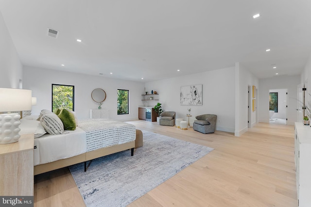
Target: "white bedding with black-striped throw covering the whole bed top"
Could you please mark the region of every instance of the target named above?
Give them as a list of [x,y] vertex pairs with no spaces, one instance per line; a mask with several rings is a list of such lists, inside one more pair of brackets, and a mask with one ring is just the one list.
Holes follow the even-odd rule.
[[85,152],[136,139],[136,127],[109,119],[79,121],[76,130],[66,134],[45,134],[35,139],[34,165],[66,159]]

